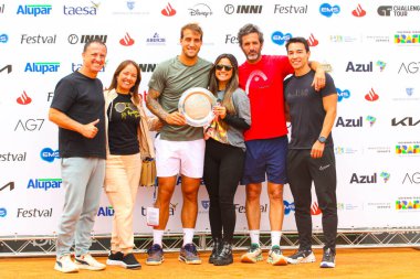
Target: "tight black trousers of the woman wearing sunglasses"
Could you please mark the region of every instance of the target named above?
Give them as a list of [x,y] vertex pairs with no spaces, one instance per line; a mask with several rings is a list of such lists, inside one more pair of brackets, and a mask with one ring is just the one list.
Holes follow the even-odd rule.
[[210,197],[211,236],[232,243],[237,214],[234,194],[243,173],[245,152],[241,148],[206,141],[204,184]]

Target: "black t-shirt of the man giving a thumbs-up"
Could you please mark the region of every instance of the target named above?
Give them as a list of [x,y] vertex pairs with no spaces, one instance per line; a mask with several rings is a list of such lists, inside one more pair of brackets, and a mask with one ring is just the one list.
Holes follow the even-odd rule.
[[55,86],[51,107],[81,124],[99,119],[96,125],[98,132],[93,139],[59,128],[60,157],[106,158],[105,99],[99,79],[90,78],[78,72],[63,77]]

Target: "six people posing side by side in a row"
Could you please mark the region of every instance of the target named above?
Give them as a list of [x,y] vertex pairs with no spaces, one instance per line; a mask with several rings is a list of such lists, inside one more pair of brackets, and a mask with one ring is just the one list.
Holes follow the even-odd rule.
[[[246,24],[238,34],[246,57],[239,66],[232,54],[221,54],[214,63],[199,57],[202,36],[198,24],[182,26],[180,55],[154,71],[146,106],[155,117],[144,111],[138,96],[140,69],[134,61],[122,62],[109,87],[103,90],[96,76],[104,66],[107,49],[101,41],[87,42],[82,67],[57,83],[49,112],[50,120],[59,126],[65,187],[56,270],[105,269],[88,253],[102,189],[115,211],[106,264],[128,269],[141,267],[133,254],[133,211],[141,160],[147,158],[156,158],[155,207],[159,210],[159,222],[153,230],[146,265],[164,261],[162,237],[179,174],[183,198],[180,261],[201,264],[193,235],[202,178],[210,198],[213,249],[209,262],[233,262],[233,200],[239,184],[246,187],[251,238],[241,261],[262,260],[260,195],[266,179],[271,226],[267,262],[277,266],[315,261],[311,247],[314,182],[325,235],[321,267],[335,267],[336,173],[330,131],[337,94],[333,79],[318,63],[309,62],[309,47],[303,37],[287,42],[287,56],[262,55],[263,33],[256,25]],[[288,75],[292,76],[285,81]],[[208,88],[218,99],[214,118],[204,128],[189,126],[178,110],[182,93],[192,87]],[[291,142],[286,120],[292,122]],[[149,130],[158,130],[154,142]],[[290,183],[295,201],[300,239],[298,250],[290,257],[280,247],[285,183]]]

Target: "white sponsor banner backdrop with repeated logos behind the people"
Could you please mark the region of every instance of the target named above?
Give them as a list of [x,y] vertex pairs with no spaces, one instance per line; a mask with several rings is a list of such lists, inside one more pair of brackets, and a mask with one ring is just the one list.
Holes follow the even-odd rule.
[[[333,130],[340,229],[414,227],[420,217],[420,4],[398,1],[146,1],[0,0],[0,235],[54,235],[64,189],[57,128],[48,120],[56,83],[82,64],[83,44],[102,39],[108,55],[98,77],[108,86],[127,58],[141,68],[140,93],[156,65],[180,53],[180,28],[199,22],[200,56],[232,53],[244,62],[238,31],[264,33],[264,54],[285,55],[285,42],[304,36],[311,60],[333,76],[338,114]],[[140,189],[135,232],[151,233],[146,207],[156,187]],[[114,210],[105,194],[94,227],[109,234]],[[245,192],[235,195],[237,232],[245,232]],[[284,230],[295,230],[294,203],[284,190]],[[177,186],[167,229],[181,233]],[[197,230],[209,230],[209,197],[199,192]],[[261,229],[269,230],[269,198],[261,198]],[[313,192],[313,224],[322,212]]]

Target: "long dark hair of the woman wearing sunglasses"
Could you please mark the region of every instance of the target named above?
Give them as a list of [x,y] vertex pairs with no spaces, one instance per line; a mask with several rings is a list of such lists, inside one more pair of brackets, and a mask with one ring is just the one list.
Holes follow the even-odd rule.
[[227,111],[229,114],[235,114],[235,109],[232,101],[232,95],[233,95],[233,92],[237,90],[239,87],[239,77],[238,77],[238,61],[232,54],[223,53],[223,54],[220,54],[216,58],[214,64],[210,69],[209,89],[216,97],[218,97],[219,81],[218,78],[216,78],[216,65],[218,65],[218,63],[222,58],[228,58],[230,63],[232,64],[232,77],[227,84],[227,88],[224,89],[224,97],[221,100],[221,104],[227,108]]

